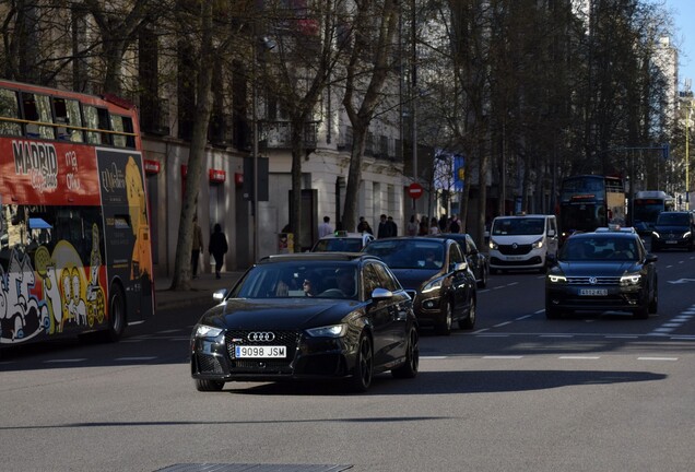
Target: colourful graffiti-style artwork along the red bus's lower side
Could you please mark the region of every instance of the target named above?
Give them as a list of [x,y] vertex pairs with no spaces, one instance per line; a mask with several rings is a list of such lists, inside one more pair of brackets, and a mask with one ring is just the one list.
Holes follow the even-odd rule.
[[67,327],[94,327],[106,319],[105,268],[98,228],[92,231],[91,266],[82,267],[74,247],[59,241],[52,252],[39,246],[32,256],[12,249],[0,266],[0,343],[21,343]]

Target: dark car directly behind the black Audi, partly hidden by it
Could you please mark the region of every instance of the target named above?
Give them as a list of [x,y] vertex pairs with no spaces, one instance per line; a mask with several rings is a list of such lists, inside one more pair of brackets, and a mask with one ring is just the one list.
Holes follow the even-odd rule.
[[413,297],[413,309],[422,326],[434,326],[448,335],[451,324],[475,326],[475,278],[458,243],[432,237],[376,239],[363,251],[386,262]]

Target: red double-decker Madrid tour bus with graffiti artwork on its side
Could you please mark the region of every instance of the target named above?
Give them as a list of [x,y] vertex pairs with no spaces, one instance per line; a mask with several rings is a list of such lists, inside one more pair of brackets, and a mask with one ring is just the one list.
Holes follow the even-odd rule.
[[137,109],[0,81],[0,347],[154,314]]

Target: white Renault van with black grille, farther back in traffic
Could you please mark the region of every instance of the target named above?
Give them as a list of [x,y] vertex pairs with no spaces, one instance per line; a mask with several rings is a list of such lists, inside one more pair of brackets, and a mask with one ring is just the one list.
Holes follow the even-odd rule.
[[490,228],[490,271],[538,269],[557,256],[557,221],[553,215],[497,216]]

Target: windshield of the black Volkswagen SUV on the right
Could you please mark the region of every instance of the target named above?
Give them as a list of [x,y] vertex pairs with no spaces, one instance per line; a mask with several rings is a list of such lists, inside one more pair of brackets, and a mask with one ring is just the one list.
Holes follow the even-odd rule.
[[569,238],[558,255],[563,261],[635,261],[637,245],[632,238]]

